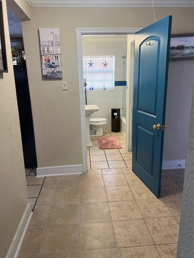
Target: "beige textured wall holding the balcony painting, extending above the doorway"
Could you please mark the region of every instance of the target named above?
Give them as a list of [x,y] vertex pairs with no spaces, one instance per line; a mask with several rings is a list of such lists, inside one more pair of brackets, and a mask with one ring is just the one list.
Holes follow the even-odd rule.
[[[38,167],[80,164],[82,149],[76,28],[146,27],[154,22],[153,9],[34,7],[31,10],[32,20],[23,21],[22,30]],[[172,15],[173,34],[193,31],[193,8],[155,8],[155,15],[156,20]],[[39,28],[60,28],[62,80],[68,82],[66,91],[62,91],[61,80],[42,79]],[[175,76],[183,73],[181,62],[177,62],[177,66]],[[190,76],[193,78],[192,74]],[[172,88],[177,90],[176,83],[172,84]],[[168,146],[165,148],[168,149]],[[178,156],[184,159],[185,155]],[[166,159],[172,159],[171,153],[167,156]],[[173,159],[176,157],[173,156]]]

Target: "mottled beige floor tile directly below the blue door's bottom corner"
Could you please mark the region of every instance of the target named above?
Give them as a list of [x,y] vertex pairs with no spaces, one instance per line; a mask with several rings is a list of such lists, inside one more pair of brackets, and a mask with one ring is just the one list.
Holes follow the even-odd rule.
[[136,202],[143,218],[173,217],[162,198],[136,200]]

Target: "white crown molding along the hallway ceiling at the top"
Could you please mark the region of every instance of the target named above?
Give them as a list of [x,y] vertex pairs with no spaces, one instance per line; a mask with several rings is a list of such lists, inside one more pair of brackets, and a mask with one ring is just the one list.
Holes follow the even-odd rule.
[[[32,7],[152,7],[152,0],[26,0]],[[193,7],[193,0],[153,0],[154,7]]]

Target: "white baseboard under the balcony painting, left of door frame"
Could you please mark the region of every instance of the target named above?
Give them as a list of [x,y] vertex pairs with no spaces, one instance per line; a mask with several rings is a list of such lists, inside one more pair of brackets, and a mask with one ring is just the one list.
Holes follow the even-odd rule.
[[74,175],[74,174],[82,174],[82,173],[83,173],[82,164],[36,168],[36,174],[37,174],[36,177]]

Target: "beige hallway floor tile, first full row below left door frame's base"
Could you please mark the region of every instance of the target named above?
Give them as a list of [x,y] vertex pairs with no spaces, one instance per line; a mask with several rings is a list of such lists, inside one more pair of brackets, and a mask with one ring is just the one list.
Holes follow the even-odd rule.
[[102,175],[81,175],[80,188],[104,186]]

